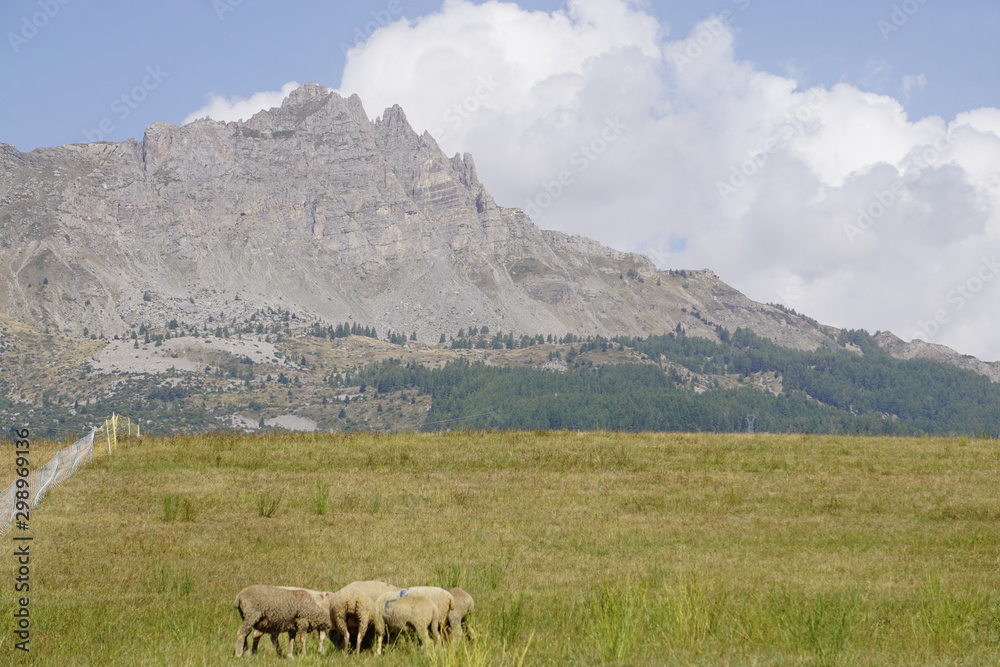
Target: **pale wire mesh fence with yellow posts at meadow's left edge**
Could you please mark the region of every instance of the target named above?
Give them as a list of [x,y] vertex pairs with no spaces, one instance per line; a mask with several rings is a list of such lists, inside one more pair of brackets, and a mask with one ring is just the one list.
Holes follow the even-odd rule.
[[100,428],[95,428],[72,445],[63,447],[41,468],[35,468],[26,478],[14,480],[10,486],[0,491],[0,537],[10,532],[14,525],[14,510],[18,500],[26,501],[29,511],[38,507],[45,494],[72,478],[73,473],[81,466],[93,461],[94,449],[103,450],[105,440],[108,454],[111,454],[118,446],[119,429],[126,428],[129,435],[133,430],[136,436],[141,435],[138,425],[133,425],[132,420],[111,415]]

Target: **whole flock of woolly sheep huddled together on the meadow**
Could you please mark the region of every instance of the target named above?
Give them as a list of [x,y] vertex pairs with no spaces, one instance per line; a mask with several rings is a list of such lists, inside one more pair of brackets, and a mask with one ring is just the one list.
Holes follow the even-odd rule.
[[415,633],[424,646],[431,638],[439,642],[441,634],[453,638],[468,633],[472,640],[466,616],[474,604],[472,596],[461,588],[398,588],[384,581],[355,581],[336,593],[292,586],[248,586],[233,603],[243,619],[236,634],[236,657],[246,650],[251,630],[253,653],[266,634],[271,636],[278,655],[278,635],[288,633],[289,655],[294,652],[298,635],[300,653],[305,654],[306,637],[314,630],[319,632],[320,654],[328,634],[330,641],[342,643],[345,653],[353,638],[360,652],[369,627],[375,629],[375,652],[379,655],[386,635],[391,638],[404,632]]

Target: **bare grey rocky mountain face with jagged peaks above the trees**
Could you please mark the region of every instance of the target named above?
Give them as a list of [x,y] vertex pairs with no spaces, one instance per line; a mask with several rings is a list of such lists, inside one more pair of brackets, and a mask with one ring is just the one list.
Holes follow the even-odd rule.
[[471,155],[399,107],[371,122],[316,84],[246,122],[154,123],[141,142],[0,144],[0,315],[111,336],[281,308],[415,331],[650,335],[749,327],[797,348],[836,330],[755,303],[710,271],[539,230]]

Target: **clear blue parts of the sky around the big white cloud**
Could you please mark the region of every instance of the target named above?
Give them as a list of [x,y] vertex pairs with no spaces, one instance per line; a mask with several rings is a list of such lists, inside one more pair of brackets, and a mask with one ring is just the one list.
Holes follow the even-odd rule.
[[[913,117],[951,119],[998,106],[1000,4],[914,2],[919,10],[889,39],[878,21],[891,22],[893,5],[905,3],[685,0],[645,7],[669,37],[729,10],[736,16],[737,56],[805,86],[846,81],[902,100],[902,78],[922,74],[925,87],[905,101]],[[565,6],[518,4],[547,12]],[[439,0],[6,0],[0,5],[0,83],[7,99],[0,106],[0,141],[20,150],[84,141],[84,130],[105,118],[115,125],[107,139],[120,141],[141,137],[158,120],[180,122],[209,93],[249,96],[290,80],[337,87],[341,45],[353,44],[358,30],[440,7]],[[38,19],[46,9],[54,15]],[[123,112],[111,105],[142,85],[147,67],[167,76],[120,119]]]

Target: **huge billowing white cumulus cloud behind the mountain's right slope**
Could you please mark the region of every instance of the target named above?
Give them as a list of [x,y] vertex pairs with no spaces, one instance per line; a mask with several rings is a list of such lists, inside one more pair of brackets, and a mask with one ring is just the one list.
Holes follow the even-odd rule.
[[472,152],[497,201],[544,228],[1000,358],[1000,110],[911,119],[882,83],[804,89],[737,57],[753,10],[670,35],[639,1],[447,0],[351,50],[340,89]]

